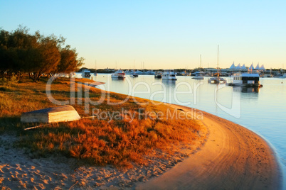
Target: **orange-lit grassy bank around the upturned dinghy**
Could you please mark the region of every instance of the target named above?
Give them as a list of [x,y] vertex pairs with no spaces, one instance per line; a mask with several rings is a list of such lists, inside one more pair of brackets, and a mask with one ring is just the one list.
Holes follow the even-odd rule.
[[[46,95],[48,79],[38,83],[23,81],[0,83],[0,133],[16,134],[15,146],[26,150],[31,157],[64,155],[89,164],[132,167],[132,163],[146,163],[145,155],[154,149],[172,154],[172,145],[191,144],[199,138],[200,125],[196,121],[184,116],[171,118],[178,112],[165,104],[154,105],[147,99],[130,97],[124,104],[110,105],[109,102],[118,103],[127,96],[105,92],[103,102],[90,105],[87,110],[84,92],[88,91],[91,101],[99,101],[100,89],[69,79],[53,82],[53,99],[74,101],[73,106],[82,117],[91,116],[92,108],[96,108],[97,117],[23,130],[38,123],[21,123],[21,113],[56,106]],[[87,81],[77,79],[77,82]],[[107,113],[117,114],[112,117]]]

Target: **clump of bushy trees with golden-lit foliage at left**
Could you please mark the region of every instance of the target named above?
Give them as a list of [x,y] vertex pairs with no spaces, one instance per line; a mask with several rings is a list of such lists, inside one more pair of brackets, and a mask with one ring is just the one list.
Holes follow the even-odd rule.
[[65,38],[55,35],[44,36],[36,31],[28,33],[26,27],[19,26],[8,32],[0,30],[0,73],[2,77],[16,75],[21,79],[28,73],[34,82],[43,74],[74,72],[83,65],[83,58]]

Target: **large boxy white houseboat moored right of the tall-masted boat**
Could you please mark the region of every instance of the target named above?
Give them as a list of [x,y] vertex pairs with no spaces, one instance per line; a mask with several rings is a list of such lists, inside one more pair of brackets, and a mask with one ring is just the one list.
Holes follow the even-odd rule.
[[233,74],[230,86],[262,86],[258,73],[235,73]]

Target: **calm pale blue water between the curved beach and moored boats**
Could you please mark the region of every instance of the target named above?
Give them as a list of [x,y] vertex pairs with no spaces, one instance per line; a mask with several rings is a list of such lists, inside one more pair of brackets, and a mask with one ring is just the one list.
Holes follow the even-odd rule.
[[110,74],[97,74],[92,79],[105,82],[100,89],[198,108],[243,125],[272,145],[286,171],[286,79],[261,78],[263,88],[259,90],[179,76],[176,82],[149,75],[118,80]]

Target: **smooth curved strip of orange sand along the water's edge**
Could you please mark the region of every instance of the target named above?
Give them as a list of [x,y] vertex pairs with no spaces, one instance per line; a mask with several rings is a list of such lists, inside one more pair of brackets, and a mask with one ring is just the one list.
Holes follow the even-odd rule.
[[[181,111],[200,110],[170,104]],[[282,189],[282,173],[270,145],[247,128],[203,113],[209,130],[194,155],[135,189]]]

